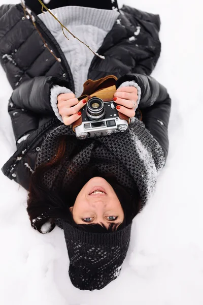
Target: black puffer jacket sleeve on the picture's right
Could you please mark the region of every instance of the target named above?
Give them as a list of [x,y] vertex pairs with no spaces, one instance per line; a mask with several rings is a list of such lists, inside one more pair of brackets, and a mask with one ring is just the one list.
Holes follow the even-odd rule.
[[171,98],[166,88],[153,77],[141,74],[126,74],[119,78],[116,88],[124,81],[134,80],[141,88],[139,108],[143,122],[163,149],[164,157],[168,154],[168,121],[171,112]]

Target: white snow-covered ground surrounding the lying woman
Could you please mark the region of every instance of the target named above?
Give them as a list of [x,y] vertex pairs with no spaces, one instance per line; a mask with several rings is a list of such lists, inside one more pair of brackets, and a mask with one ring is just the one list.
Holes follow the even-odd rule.
[[[15,0],[0,0],[17,3]],[[119,7],[124,3],[118,1]],[[0,173],[0,303],[2,305],[202,305],[202,3],[126,0],[160,14],[162,53],[153,76],[173,101],[170,154],[156,192],[134,219],[130,249],[117,280],[100,291],[72,286],[59,228],[30,227],[26,192]],[[14,153],[7,103],[12,93],[2,68],[0,166]]]

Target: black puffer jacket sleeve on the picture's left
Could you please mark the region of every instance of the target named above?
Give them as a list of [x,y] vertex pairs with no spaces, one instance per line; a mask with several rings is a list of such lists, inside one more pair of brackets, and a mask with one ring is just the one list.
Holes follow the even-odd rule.
[[50,103],[53,85],[67,87],[67,82],[51,76],[39,76],[23,82],[14,90],[8,111],[17,143],[21,137],[37,130],[43,118],[55,117]]

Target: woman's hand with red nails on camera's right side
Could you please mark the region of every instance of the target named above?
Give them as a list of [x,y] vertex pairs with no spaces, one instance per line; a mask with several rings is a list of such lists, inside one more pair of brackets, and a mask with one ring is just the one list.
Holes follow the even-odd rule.
[[136,114],[137,101],[138,90],[133,86],[118,88],[114,94],[114,102],[118,104],[116,109],[129,117]]

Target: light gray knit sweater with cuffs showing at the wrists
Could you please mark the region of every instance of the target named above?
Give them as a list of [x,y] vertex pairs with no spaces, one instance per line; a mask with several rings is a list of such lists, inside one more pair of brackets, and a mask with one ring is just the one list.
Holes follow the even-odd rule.
[[[52,10],[52,13],[76,37],[90,46],[94,52],[103,44],[106,35],[111,31],[119,16],[119,12],[114,10],[78,6],[57,8]],[[63,51],[73,74],[75,95],[76,97],[80,97],[83,92],[83,84],[87,80],[88,70],[94,54],[83,43],[73,38],[73,36],[66,31],[65,35],[70,39],[67,40],[63,35],[60,24],[49,13],[40,14],[38,16],[47,26]],[[141,90],[135,82],[125,82],[121,86],[129,85],[138,88],[140,101]],[[53,86],[51,89],[51,105],[56,116],[61,121],[62,117],[58,113],[57,108],[57,96],[62,93],[71,93],[71,90],[59,86]]]

